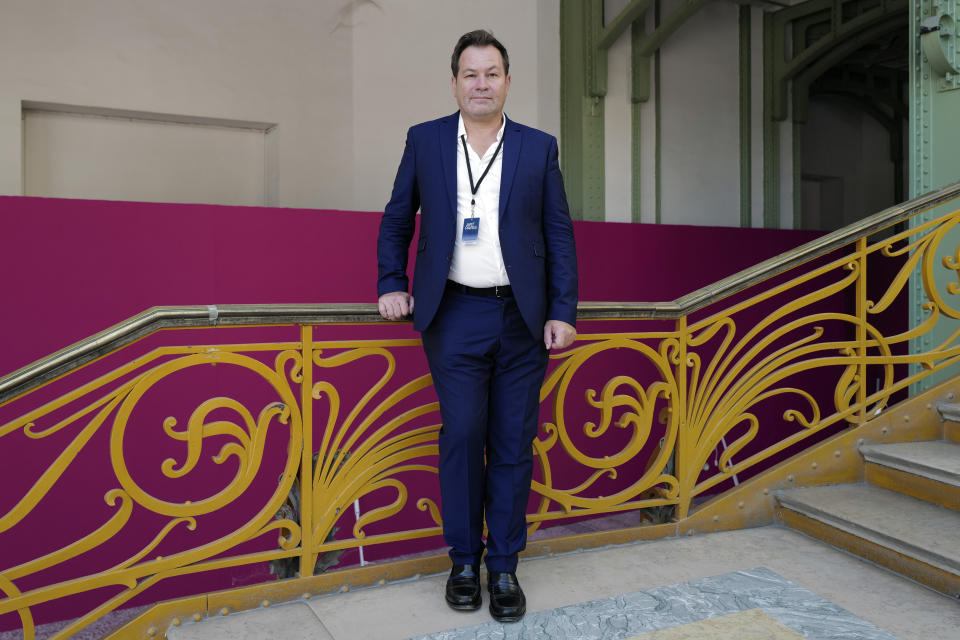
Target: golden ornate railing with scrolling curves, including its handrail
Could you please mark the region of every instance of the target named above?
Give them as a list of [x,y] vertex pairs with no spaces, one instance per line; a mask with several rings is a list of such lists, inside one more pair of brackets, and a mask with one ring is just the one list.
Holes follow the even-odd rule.
[[[957,334],[925,353],[905,346],[940,318],[960,318],[946,297],[960,285],[938,285],[936,274],[960,273],[960,249],[935,259],[960,211],[916,222],[958,196],[960,184],[917,198],[672,303],[581,304],[581,320],[605,322],[581,325],[575,345],[551,355],[531,528],[655,508],[682,520],[738,474],[866,421],[956,362]],[[911,229],[890,232],[910,219]],[[924,285],[926,321],[881,321],[903,307],[911,274]],[[0,407],[29,405],[41,387],[68,384],[75,370],[161,329],[298,331],[158,346],[0,426],[3,450],[43,452],[5,469],[33,475],[2,503],[0,535],[33,536],[49,497],[64,485],[77,492],[75,467],[84,481],[98,470],[107,505],[86,528],[55,532],[72,539],[0,571],[0,615],[16,612],[31,638],[34,608],[99,594],[57,636],[66,637],[165,581],[284,559],[308,575],[321,554],[436,536],[439,416],[419,341],[318,334],[379,322],[374,305],[158,307],[0,379]],[[911,373],[908,363],[923,368]],[[231,372],[246,376],[245,397],[222,390]],[[179,400],[197,398],[182,414],[154,398],[177,380]],[[145,424],[153,415],[164,417]],[[132,451],[147,430],[156,460]],[[360,498],[376,506],[353,517]],[[335,526],[346,533],[334,536]]]

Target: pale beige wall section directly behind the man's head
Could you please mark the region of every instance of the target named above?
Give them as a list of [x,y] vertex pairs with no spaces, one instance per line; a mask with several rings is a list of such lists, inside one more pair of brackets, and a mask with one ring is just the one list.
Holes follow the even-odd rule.
[[[352,30],[352,184],[359,205],[354,208],[376,210],[387,201],[411,124],[457,110],[450,53],[457,37],[471,29],[490,29],[510,54],[507,116],[559,136],[558,0],[377,0],[377,5],[364,6]],[[541,24],[551,23],[554,29],[541,32]]]

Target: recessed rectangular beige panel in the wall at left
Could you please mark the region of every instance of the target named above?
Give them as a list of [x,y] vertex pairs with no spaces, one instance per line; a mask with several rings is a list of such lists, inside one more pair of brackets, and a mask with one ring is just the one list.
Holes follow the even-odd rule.
[[262,129],[162,122],[123,113],[125,117],[24,109],[24,195],[268,203],[269,134]]

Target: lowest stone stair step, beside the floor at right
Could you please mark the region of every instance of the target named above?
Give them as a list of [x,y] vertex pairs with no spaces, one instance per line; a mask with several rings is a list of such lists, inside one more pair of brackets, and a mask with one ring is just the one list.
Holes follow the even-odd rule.
[[868,484],[794,489],[777,500],[792,528],[960,595],[960,513]]

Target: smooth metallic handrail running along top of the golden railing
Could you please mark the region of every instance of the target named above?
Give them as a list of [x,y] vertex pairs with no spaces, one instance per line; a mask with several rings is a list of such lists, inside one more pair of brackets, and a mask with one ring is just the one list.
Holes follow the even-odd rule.
[[[701,287],[672,302],[581,302],[577,318],[676,319],[712,302],[814,260],[926,209],[960,197],[960,182],[930,191],[858,220],[769,260]],[[0,378],[0,404],[50,380],[165,328],[205,328],[263,324],[339,324],[389,322],[369,303],[192,305],[152,307]]]

